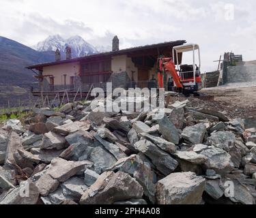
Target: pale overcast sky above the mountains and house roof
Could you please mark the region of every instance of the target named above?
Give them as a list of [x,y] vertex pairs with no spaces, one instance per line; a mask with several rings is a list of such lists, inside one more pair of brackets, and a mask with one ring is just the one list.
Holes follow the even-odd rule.
[[120,48],[186,40],[201,46],[205,72],[225,51],[256,59],[255,8],[255,0],[0,0],[0,35],[27,46],[55,34],[94,46],[118,35]]

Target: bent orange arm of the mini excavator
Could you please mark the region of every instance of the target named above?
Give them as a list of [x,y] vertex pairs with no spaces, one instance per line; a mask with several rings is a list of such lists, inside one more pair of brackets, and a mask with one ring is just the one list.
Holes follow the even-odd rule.
[[183,89],[182,82],[180,81],[180,76],[177,74],[175,69],[175,64],[171,58],[160,58],[158,59],[158,87],[164,88],[163,76],[167,72],[171,74],[173,81],[178,89]]

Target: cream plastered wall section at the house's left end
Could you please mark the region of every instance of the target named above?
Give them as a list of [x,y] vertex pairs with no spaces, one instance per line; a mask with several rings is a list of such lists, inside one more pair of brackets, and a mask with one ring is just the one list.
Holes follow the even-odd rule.
[[[53,65],[44,67],[43,75],[53,75],[55,85],[63,85],[63,75],[66,74],[66,84],[70,84],[70,76],[79,75],[79,62],[65,63],[61,65]],[[46,78],[50,82],[49,78]]]

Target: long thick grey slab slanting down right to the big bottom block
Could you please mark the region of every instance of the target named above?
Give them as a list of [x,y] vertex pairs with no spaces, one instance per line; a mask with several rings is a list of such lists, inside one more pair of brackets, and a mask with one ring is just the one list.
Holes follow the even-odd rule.
[[173,157],[159,149],[158,146],[150,140],[142,139],[134,144],[134,147],[149,157],[154,166],[165,176],[173,172],[178,166],[177,161],[173,159]]

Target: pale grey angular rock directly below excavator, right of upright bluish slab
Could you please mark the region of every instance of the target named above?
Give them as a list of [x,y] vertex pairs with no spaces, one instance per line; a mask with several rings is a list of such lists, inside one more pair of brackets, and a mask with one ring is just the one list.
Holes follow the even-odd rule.
[[201,144],[206,133],[206,127],[203,123],[186,127],[182,131],[182,138],[192,144]]

